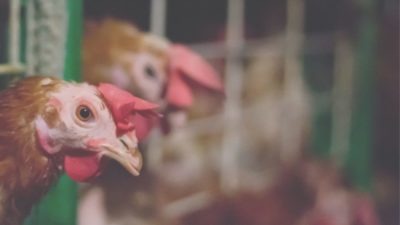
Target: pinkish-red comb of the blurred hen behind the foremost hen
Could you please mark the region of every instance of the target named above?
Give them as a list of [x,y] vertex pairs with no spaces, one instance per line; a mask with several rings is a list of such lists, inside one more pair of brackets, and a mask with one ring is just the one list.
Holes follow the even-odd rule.
[[217,92],[224,92],[218,73],[200,55],[189,48],[173,44],[170,48],[170,73],[167,86],[167,101],[178,107],[189,107],[193,93],[189,79],[196,84]]

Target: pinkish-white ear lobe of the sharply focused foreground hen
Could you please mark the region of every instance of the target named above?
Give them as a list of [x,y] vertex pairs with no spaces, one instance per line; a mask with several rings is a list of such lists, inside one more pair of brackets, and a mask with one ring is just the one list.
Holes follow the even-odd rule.
[[38,142],[45,152],[55,154],[61,150],[61,145],[57,145],[52,141],[50,137],[51,129],[41,116],[36,118],[35,127]]

